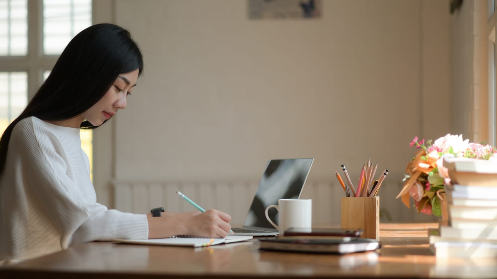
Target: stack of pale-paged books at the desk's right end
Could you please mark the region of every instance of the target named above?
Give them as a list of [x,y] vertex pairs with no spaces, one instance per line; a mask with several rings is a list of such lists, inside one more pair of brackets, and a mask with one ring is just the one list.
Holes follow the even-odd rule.
[[448,223],[431,232],[436,257],[497,257],[497,160],[444,158]]

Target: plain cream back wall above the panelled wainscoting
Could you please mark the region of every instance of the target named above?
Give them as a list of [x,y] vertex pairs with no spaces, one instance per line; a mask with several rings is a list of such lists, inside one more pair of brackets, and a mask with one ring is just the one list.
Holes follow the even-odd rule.
[[326,0],[309,20],[248,20],[246,0],[110,3],[145,74],[95,131],[100,202],[111,179],[257,182],[270,158],[314,157],[310,181],[340,164],[356,180],[371,158],[390,170],[382,207],[425,219],[394,198],[414,136],[451,132],[433,102],[450,96],[447,1]]

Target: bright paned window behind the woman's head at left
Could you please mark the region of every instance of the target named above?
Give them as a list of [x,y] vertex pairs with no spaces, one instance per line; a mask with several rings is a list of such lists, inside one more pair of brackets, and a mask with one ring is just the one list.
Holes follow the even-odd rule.
[[[0,0],[0,133],[26,107],[69,41],[90,25],[91,0]],[[80,135],[91,175],[92,132]]]

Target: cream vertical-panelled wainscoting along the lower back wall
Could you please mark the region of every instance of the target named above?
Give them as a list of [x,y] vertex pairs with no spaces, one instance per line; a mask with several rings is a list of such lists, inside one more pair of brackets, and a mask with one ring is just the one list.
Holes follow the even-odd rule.
[[[240,226],[245,220],[248,208],[257,191],[258,182],[130,182],[117,181],[114,185],[115,209],[124,212],[146,213],[150,209],[164,207],[166,211],[182,212],[195,210],[190,204],[176,195],[180,191],[204,209],[219,209],[231,215],[233,226]],[[395,186],[395,191],[387,191]],[[392,189],[392,188],[390,188]],[[385,196],[381,196],[381,208],[386,208],[392,219],[411,221],[412,214],[399,200],[398,184],[382,185]],[[336,182],[306,182],[301,198],[313,200],[314,225],[340,224],[340,197],[342,188]],[[401,210],[399,210],[401,209]],[[404,213],[401,213],[404,212]],[[386,218],[381,222],[388,221]]]

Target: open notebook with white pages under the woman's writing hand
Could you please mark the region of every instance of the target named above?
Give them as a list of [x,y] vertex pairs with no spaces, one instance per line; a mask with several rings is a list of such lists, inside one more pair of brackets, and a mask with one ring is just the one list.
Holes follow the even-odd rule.
[[168,238],[156,239],[114,239],[117,243],[132,243],[146,245],[190,246],[203,247],[223,243],[239,242],[252,239],[252,236],[227,236],[226,238],[199,237],[179,235]]

